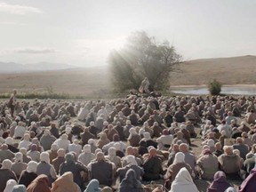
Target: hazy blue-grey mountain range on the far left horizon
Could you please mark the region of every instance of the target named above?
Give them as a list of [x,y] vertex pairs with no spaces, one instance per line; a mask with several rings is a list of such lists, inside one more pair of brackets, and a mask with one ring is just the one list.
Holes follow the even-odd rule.
[[74,66],[62,63],[38,62],[35,64],[19,64],[14,62],[1,62],[0,73],[23,73],[32,71],[52,71],[63,70],[68,68],[76,68]]

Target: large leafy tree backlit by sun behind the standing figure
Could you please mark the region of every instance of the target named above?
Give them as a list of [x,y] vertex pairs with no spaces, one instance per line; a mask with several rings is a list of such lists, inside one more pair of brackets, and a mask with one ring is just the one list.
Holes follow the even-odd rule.
[[118,90],[139,89],[148,77],[150,86],[163,90],[170,86],[170,75],[180,64],[180,54],[168,41],[156,43],[146,32],[134,32],[118,51],[109,53],[112,82]]

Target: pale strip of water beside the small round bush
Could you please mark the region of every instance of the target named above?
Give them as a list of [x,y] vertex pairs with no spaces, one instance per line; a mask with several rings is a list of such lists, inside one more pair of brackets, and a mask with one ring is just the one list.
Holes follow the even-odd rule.
[[[180,90],[173,89],[172,92],[178,94],[188,94],[188,95],[199,95],[199,94],[209,94],[207,88],[182,88]],[[236,94],[236,95],[255,95],[256,87],[225,87],[221,88],[222,94]]]

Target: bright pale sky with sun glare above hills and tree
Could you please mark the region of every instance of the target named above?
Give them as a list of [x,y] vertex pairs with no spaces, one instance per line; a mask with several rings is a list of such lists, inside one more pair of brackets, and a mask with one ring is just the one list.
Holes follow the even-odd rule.
[[256,54],[255,0],[0,0],[0,61],[107,64],[145,30],[184,60]]

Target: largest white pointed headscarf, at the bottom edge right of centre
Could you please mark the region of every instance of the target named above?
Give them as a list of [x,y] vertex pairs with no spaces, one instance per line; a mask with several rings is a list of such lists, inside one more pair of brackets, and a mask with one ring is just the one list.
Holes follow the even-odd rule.
[[170,192],[198,192],[188,170],[183,167],[172,182]]

